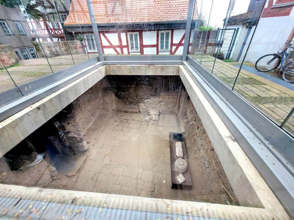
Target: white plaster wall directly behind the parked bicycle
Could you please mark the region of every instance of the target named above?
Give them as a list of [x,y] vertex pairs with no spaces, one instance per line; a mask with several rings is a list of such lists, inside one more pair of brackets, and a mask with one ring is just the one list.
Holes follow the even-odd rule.
[[276,53],[289,37],[293,24],[294,8],[289,16],[260,18],[245,61],[255,63],[263,55]]

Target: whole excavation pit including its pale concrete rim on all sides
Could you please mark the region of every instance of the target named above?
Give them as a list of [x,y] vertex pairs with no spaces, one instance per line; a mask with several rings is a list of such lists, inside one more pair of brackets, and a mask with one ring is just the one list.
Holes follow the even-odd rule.
[[[288,219],[198,82],[181,65],[104,65],[2,121],[1,155],[46,157],[18,171],[1,158],[0,198],[128,209],[139,219]],[[191,190],[171,189],[170,132],[183,133]]]

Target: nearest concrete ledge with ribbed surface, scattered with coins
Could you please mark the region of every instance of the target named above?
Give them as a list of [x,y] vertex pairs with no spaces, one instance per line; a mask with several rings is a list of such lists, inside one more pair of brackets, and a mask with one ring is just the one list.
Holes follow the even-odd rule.
[[[68,220],[74,216],[72,210],[78,209],[81,211],[78,219],[165,219],[171,216],[173,219],[290,220],[278,210],[2,184],[0,209],[8,210],[5,217],[9,219],[15,213],[26,219],[29,216],[26,213],[30,213],[32,219],[61,219],[64,216]],[[38,211],[41,215],[36,215]]]

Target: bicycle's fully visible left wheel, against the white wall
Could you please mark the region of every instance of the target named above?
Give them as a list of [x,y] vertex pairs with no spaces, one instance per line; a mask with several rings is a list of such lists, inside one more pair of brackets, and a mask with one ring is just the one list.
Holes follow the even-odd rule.
[[255,63],[255,69],[260,72],[274,70],[280,65],[281,57],[278,54],[268,54],[260,57]]

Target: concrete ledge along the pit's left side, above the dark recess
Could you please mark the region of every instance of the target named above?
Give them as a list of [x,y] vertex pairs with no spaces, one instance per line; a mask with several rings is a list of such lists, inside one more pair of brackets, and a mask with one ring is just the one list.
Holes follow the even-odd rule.
[[0,157],[105,76],[105,66],[66,85],[0,123]]

